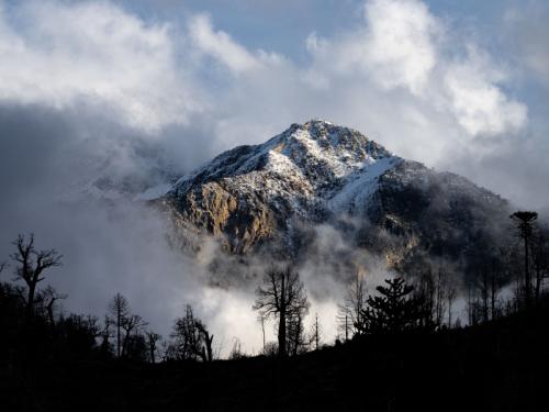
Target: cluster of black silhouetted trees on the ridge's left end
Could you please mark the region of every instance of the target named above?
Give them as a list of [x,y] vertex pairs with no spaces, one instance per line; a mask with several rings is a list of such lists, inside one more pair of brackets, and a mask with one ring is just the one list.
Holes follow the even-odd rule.
[[14,275],[14,282],[0,282],[0,363],[4,366],[52,358],[149,363],[159,358],[214,358],[213,335],[190,305],[175,320],[166,342],[132,312],[121,293],[111,299],[102,320],[90,314],[66,314],[60,302],[68,296],[51,285],[41,287],[46,274],[63,265],[63,256],[53,248],[38,249],[32,234],[19,235],[13,246],[10,261],[0,263],[0,272],[12,266]]

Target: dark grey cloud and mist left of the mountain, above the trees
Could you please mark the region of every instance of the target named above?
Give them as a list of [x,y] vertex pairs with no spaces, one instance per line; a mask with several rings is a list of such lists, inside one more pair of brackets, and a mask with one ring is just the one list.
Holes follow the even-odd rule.
[[77,185],[89,185],[90,170],[101,166],[113,178],[135,175],[131,158],[117,157],[111,168],[101,151],[110,147],[107,142],[87,141],[80,127],[92,134],[107,127],[119,137],[120,130],[86,118],[36,104],[0,104],[0,259],[13,252],[19,233],[35,233],[38,248],[64,255],[64,266],[45,274],[45,282],[69,293],[68,310],[101,318],[120,291],[165,334],[184,297],[200,290],[200,266],[169,247],[161,215],[123,198],[103,201]]

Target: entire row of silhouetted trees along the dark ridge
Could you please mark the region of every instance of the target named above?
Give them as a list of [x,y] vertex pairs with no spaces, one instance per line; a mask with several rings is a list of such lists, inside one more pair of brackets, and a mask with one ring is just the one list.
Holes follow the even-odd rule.
[[[514,222],[516,240],[507,247],[489,247],[479,238],[467,285],[451,276],[451,268],[426,264],[406,279],[386,279],[368,293],[366,278],[357,272],[348,285],[337,318],[337,342],[371,335],[406,331],[434,332],[459,327],[453,305],[458,296],[467,299],[467,323],[477,324],[514,311],[529,309],[542,298],[549,277],[549,242],[546,227],[537,223],[537,213],[518,211]],[[12,266],[19,283],[0,282],[0,339],[3,361],[8,366],[31,363],[36,358],[98,358],[157,363],[158,360],[199,360],[219,357],[214,335],[190,304],[173,321],[169,336],[148,327],[133,313],[128,300],[115,293],[102,320],[88,314],[65,314],[60,302],[67,294],[42,283],[46,274],[63,265],[55,249],[38,249],[33,235],[20,235],[13,242],[10,261],[0,263],[0,272]],[[513,290],[508,293],[509,286]],[[507,296],[503,296],[504,288]],[[502,291],[503,290],[503,291]],[[278,357],[296,356],[323,346],[318,314],[309,330],[310,311],[306,289],[292,266],[267,269],[256,290],[253,310],[258,313],[262,333],[262,354]],[[277,342],[266,342],[266,322],[274,321]],[[464,323],[464,322],[463,322]],[[337,343],[336,342],[336,343]],[[235,341],[231,357],[244,356]]]

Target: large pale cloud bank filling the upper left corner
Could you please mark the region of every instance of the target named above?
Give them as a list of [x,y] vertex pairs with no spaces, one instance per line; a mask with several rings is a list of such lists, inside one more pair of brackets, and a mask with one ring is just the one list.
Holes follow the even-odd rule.
[[146,131],[186,122],[201,108],[177,69],[166,24],[146,24],[107,2],[32,1],[18,7],[16,22],[3,10],[2,100],[63,109],[86,99]]

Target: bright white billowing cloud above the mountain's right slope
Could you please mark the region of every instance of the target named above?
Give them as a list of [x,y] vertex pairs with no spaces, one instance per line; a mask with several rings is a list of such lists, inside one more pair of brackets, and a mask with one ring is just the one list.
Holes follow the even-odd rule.
[[[315,47],[315,36],[307,40],[313,67],[306,71],[306,80],[324,89],[352,85],[363,90],[365,99],[378,94],[376,88],[380,88],[381,99],[399,98],[393,101],[395,107],[406,101],[405,113],[430,112],[435,118],[423,122],[427,126],[424,134],[435,145],[440,144],[433,143],[435,138],[444,137],[430,134],[429,124],[432,131],[439,129],[436,123],[458,127],[467,142],[523,129],[527,108],[506,96],[502,85],[508,79],[503,68],[480,47],[460,46],[462,40],[452,36],[450,29],[417,0],[367,1],[361,26],[324,41],[323,47]],[[394,119],[393,114],[385,113],[385,121]],[[406,124],[406,119],[400,122]],[[429,152],[430,158],[422,160],[436,163],[445,155],[444,151]]]

